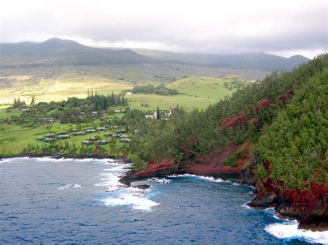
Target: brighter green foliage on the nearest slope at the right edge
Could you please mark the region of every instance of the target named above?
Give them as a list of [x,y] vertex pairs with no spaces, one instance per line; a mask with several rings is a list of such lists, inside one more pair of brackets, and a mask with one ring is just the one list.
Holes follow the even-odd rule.
[[[317,60],[317,62],[320,60]],[[327,61],[327,60],[326,60]],[[272,179],[289,187],[307,182],[328,184],[328,66],[300,84],[286,110],[265,128],[255,146],[262,161],[270,161]],[[259,165],[258,173],[262,166]]]

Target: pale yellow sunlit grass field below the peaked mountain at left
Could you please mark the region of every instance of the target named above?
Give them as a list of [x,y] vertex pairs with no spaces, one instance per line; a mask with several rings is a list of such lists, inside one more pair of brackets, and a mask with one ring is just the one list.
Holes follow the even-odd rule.
[[[18,78],[17,78],[18,77]],[[12,103],[15,97],[20,97],[27,103],[32,96],[35,101],[61,101],[68,97],[86,97],[88,90],[94,90],[101,94],[116,93],[132,88],[128,81],[108,79],[106,77],[81,75],[77,72],[64,72],[55,79],[39,79],[35,81],[20,80],[20,76],[11,76],[12,84],[10,88],[0,88],[0,104]]]

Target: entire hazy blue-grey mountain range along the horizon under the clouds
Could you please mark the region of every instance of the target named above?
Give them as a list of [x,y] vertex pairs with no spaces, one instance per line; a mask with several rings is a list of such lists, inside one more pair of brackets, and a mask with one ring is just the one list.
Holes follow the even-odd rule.
[[284,58],[264,52],[244,55],[187,55],[147,49],[92,48],[58,38],[42,43],[0,43],[0,67],[102,66],[127,63],[183,63],[215,68],[291,70],[309,59]]

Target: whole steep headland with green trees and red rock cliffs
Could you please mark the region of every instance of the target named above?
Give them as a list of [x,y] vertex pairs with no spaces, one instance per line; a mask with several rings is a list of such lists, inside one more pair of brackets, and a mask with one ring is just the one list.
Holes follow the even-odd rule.
[[275,206],[300,227],[328,229],[328,55],[273,72],[205,111],[175,108],[131,141],[135,174],[238,174],[250,206]]

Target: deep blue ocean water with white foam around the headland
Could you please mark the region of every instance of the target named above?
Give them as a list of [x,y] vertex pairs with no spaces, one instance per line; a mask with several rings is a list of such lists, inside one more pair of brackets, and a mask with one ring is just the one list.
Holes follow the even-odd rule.
[[0,160],[0,244],[328,243],[327,232],[248,208],[250,187],[181,175],[124,188],[126,170],[108,159]]

